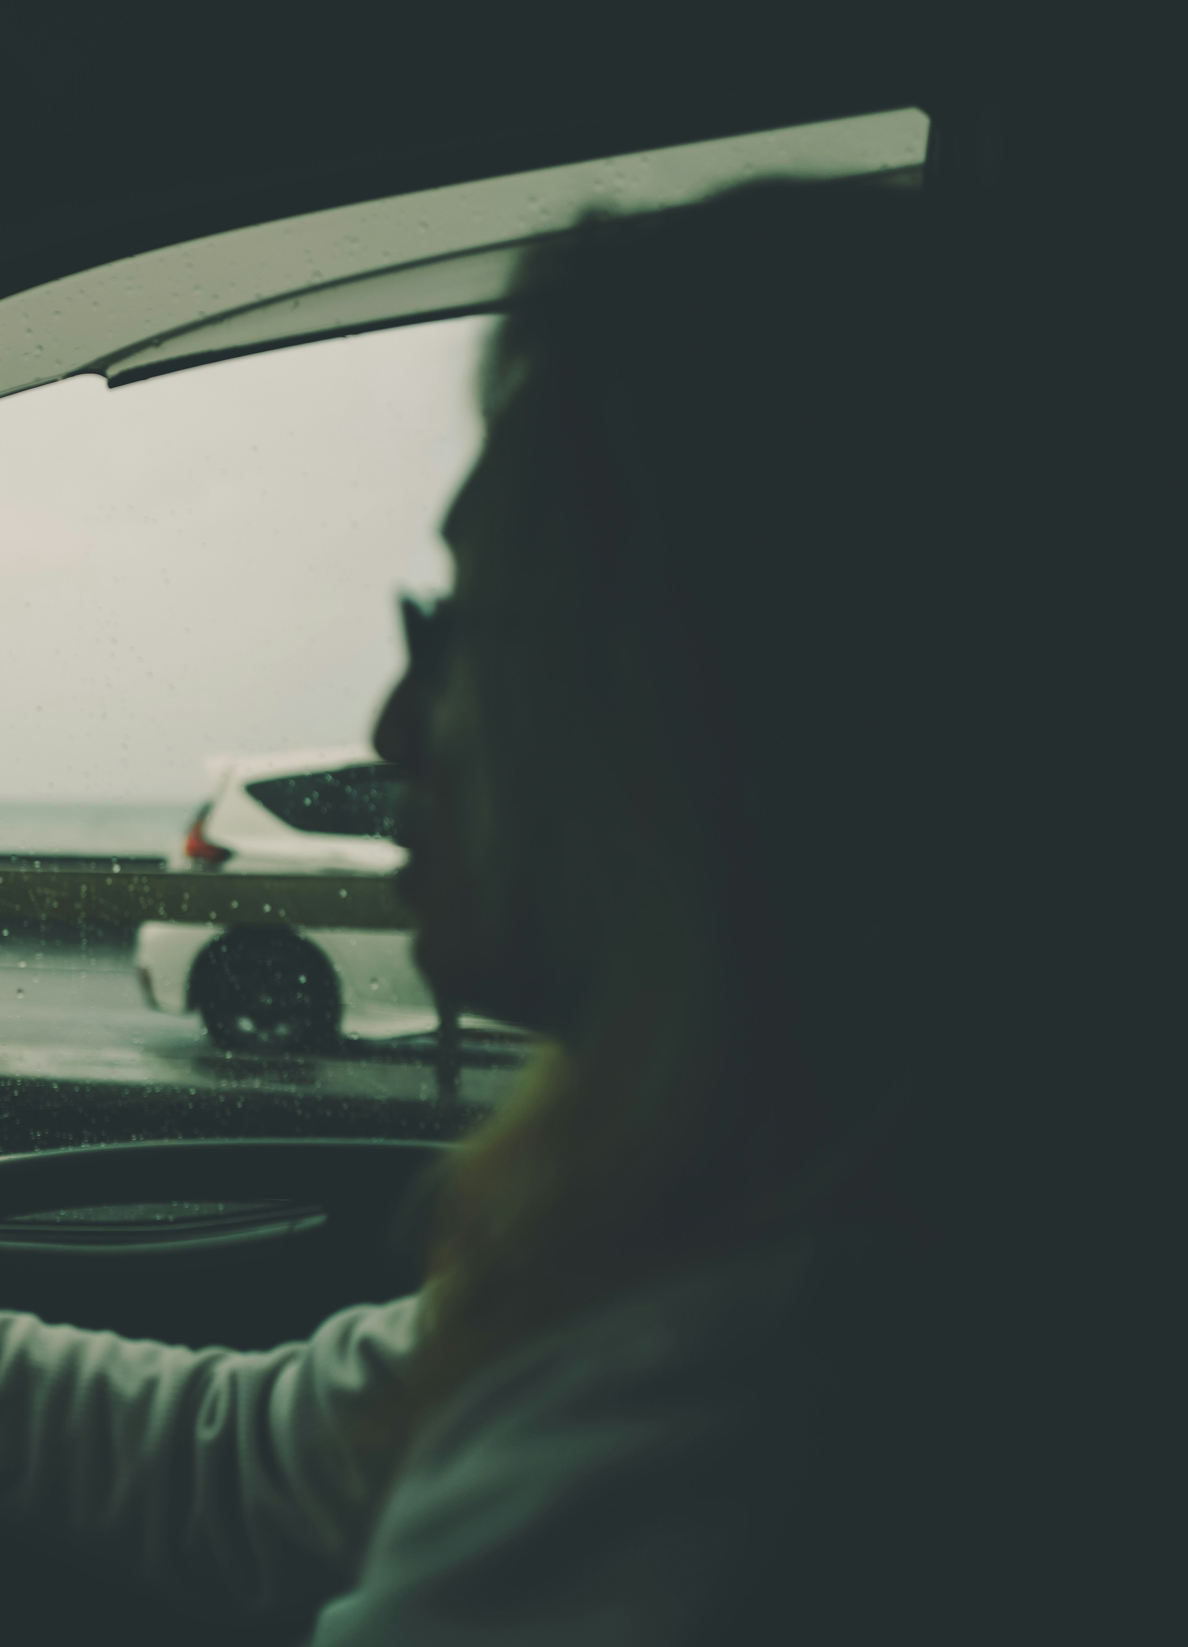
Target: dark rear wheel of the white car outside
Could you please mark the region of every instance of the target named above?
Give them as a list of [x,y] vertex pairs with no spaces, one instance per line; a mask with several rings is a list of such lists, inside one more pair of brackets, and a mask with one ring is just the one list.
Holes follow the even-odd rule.
[[237,929],[198,959],[191,990],[206,1033],[231,1052],[325,1052],[341,1003],[330,963],[292,932]]

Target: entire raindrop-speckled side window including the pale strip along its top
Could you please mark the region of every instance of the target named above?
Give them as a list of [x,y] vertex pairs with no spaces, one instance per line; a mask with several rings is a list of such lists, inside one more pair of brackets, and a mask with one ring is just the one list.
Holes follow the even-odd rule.
[[[448,590],[438,524],[481,441],[494,288],[456,259],[768,171],[913,186],[926,130],[898,110],[494,178],[0,303],[0,1150],[412,1136],[503,1100],[531,1046],[420,977],[369,744],[397,591]],[[346,301],[392,268],[415,303]],[[178,326],[204,339],[185,371]]]

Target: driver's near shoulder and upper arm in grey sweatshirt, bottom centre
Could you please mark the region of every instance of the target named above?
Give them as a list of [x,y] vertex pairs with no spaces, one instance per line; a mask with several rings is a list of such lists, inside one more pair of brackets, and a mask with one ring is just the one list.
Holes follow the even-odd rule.
[[811,1502],[835,1360],[814,1323],[863,1270],[845,1245],[778,1237],[685,1263],[503,1354],[414,1443],[326,1631],[366,1617],[437,1639],[470,1596],[524,1640],[549,1617],[540,1640],[578,1639],[606,1607],[620,1622],[592,1640],[652,1616],[684,1639],[763,1527]]

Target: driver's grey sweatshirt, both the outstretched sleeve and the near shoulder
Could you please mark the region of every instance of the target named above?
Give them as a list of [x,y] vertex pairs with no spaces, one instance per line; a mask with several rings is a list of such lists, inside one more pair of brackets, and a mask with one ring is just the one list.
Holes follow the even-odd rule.
[[773,1341],[804,1265],[794,1243],[717,1260],[534,1336],[395,1486],[351,1431],[420,1296],[260,1354],[0,1313],[0,1519],[178,1598],[305,1616],[311,1647],[690,1642],[812,1430],[816,1360]]

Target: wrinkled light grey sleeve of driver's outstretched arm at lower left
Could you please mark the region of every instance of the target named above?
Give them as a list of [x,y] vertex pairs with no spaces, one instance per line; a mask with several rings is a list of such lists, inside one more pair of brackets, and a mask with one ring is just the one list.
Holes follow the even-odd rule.
[[300,1611],[356,1575],[389,1467],[353,1430],[419,1296],[259,1354],[0,1313],[0,1520],[175,1596]]

